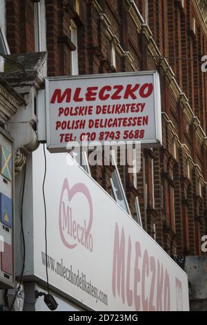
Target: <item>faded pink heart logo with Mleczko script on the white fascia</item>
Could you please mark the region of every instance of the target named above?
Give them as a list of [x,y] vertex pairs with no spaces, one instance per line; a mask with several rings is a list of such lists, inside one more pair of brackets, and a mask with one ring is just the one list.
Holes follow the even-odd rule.
[[65,178],[59,204],[59,232],[63,244],[70,249],[82,245],[92,252],[93,209],[88,187],[78,183],[69,187]]

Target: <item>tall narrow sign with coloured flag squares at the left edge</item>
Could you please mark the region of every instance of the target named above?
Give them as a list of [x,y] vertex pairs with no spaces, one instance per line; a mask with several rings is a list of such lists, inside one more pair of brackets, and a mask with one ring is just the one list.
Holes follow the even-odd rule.
[[0,127],[0,287],[14,288],[14,156],[12,138]]

